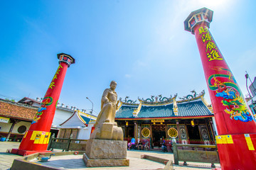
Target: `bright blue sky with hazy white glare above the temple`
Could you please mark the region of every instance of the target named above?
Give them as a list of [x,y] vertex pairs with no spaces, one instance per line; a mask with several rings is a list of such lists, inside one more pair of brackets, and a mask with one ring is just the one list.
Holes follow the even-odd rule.
[[133,100],[183,97],[206,90],[194,35],[183,21],[198,8],[213,10],[210,32],[242,92],[245,71],[256,71],[255,1],[1,1],[0,96],[43,97],[58,67],[72,55],[60,103],[100,111],[110,81]]

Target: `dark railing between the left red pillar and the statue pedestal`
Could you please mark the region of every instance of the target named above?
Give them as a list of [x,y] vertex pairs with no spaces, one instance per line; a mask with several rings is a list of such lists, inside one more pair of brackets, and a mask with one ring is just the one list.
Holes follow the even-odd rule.
[[50,137],[48,150],[63,149],[63,151],[85,151],[87,140],[76,140],[72,138]]

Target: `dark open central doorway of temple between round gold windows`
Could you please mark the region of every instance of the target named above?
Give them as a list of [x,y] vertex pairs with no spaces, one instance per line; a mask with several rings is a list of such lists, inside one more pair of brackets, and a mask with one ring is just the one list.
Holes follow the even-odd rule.
[[152,125],[152,142],[154,148],[161,148],[161,143],[166,139],[165,125]]

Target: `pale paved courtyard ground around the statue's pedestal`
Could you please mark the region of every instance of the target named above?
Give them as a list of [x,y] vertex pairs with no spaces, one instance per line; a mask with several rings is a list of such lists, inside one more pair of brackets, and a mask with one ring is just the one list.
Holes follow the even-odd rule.
[[[13,163],[14,159],[21,157],[15,154],[6,153],[7,149],[14,149],[18,148],[20,142],[0,142],[0,169],[6,170],[11,168],[11,164]],[[148,154],[154,157],[160,157],[164,159],[169,159],[174,162],[174,155],[171,153],[163,153],[163,152],[152,152],[152,151],[128,151],[127,152],[127,159],[130,160],[130,166],[123,166],[123,167],[94,167],[94,168],[87,168],[85,167],[85,163],[82,161],[82,155],[67,155],[67,156],[58,156],[52,157],[50,162],[46,162],[48,166],[58,167],[60,169],[164,169],[164,164],[160,164],[158,162],[153,162],[147,159],[141,159],[142,154]],[[72,162],[72,163],[70,163]],[[180,162],[182,163],[182,162]],[[217,167],[220,167],[219,164],[215,164]],[[194,169],[211,169],[210,164],[203,164],[203,163],[191,163],[188,162],[188,166],[174,165],[174,169],[187,169],[187,170],[194,170]]]

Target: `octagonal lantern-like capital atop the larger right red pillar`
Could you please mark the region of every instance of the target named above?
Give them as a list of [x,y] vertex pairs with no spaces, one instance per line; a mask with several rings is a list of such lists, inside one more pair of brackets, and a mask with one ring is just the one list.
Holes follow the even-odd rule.
[[206,24],[210,28],[210,22],[213,20],[213,11],[208,8],[201,8],[189,14],[188,18],[184,21],[185,30],[194,33],[194,28],[198,24]]

